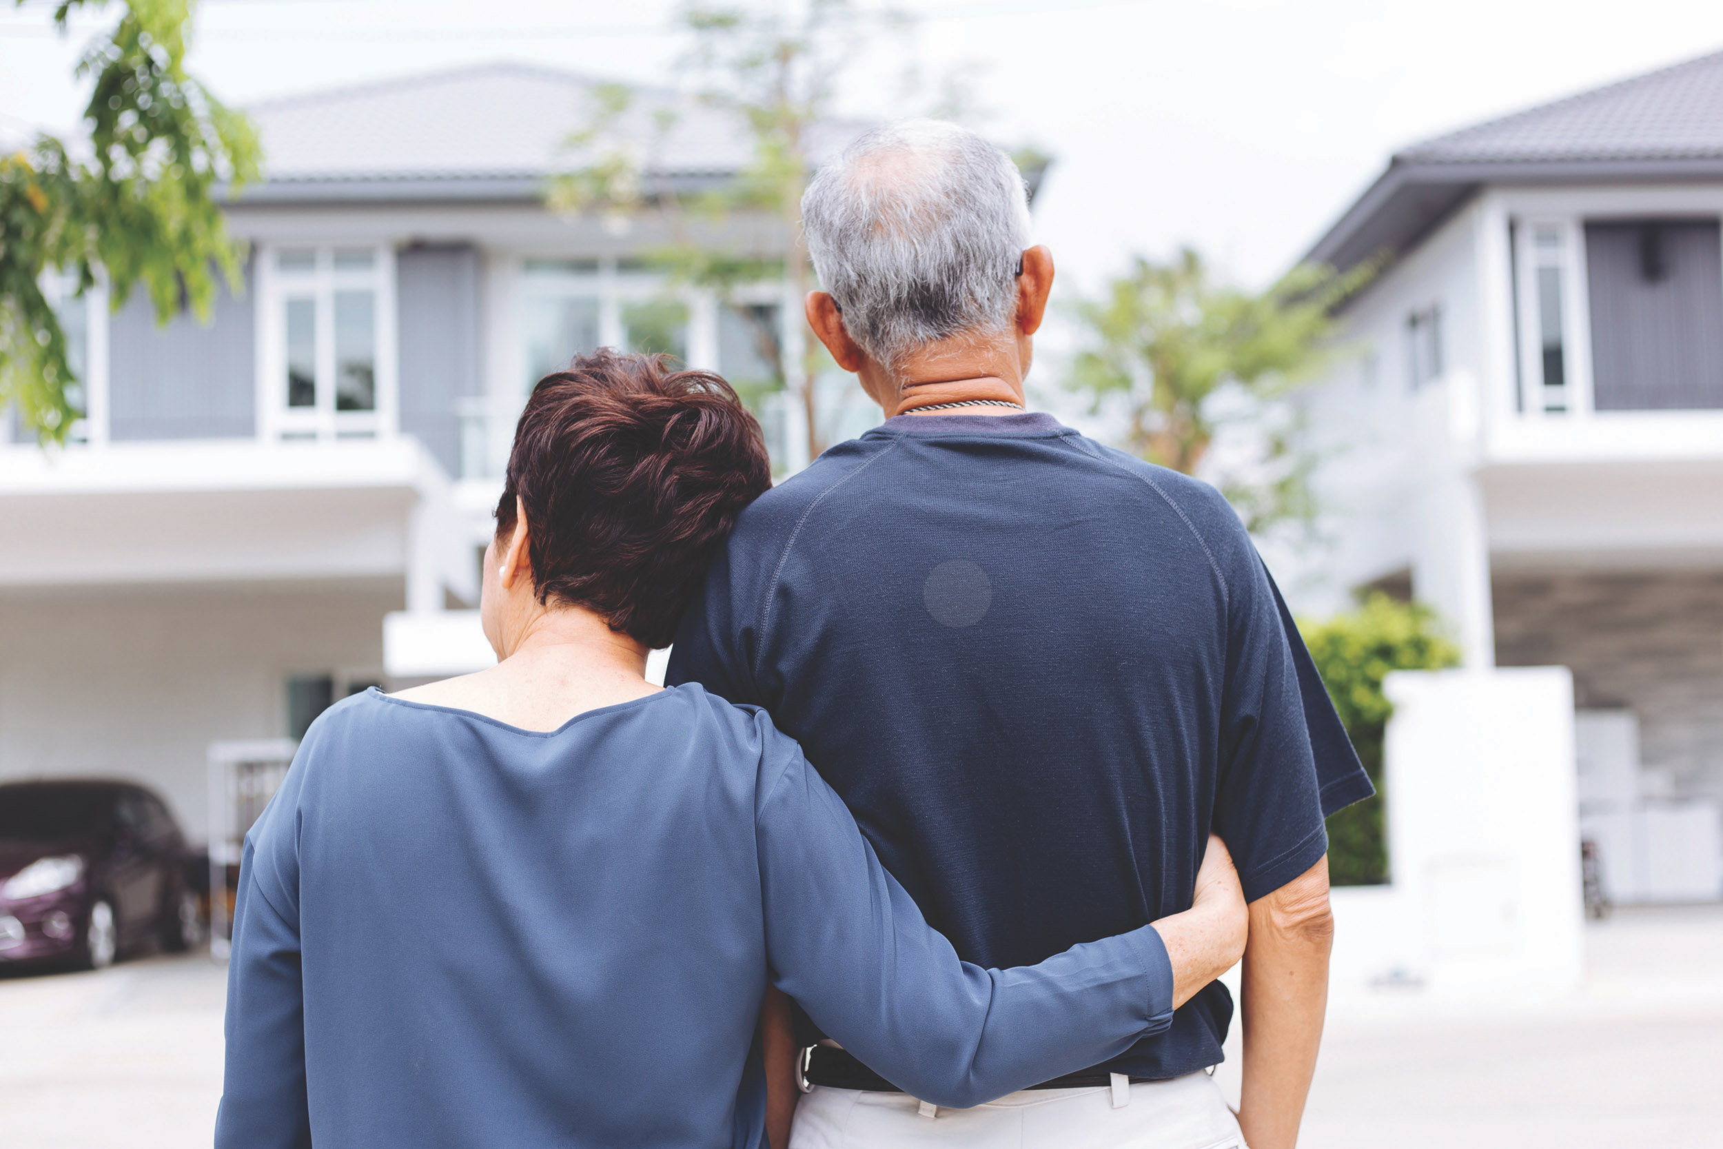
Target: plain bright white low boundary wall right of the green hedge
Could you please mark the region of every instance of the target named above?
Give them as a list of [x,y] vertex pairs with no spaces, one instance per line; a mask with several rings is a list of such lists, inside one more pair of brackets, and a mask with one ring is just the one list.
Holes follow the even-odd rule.
[[1334,992],[1571,987],[1582,894],[1568,672],[1401,670],[1384,689],[1392,882],[1334,891]]

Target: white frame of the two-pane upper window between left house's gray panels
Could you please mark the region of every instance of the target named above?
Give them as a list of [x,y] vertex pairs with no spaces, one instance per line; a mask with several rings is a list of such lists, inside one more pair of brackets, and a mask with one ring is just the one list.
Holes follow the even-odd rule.
[[[310,250],[308,272],[283,270],[281,252]],[[338,269],[334,253],[365,250],[367,269]],[[334,296],[338,291],[372,293],[372,410],[338,410]],[[310,298],[315,314],[315,398],[310,407],[288,405],[288,300]],[[400,431],[400,379],[396,365],[395,248],[381,239],[272,241],[258,245],[257,262],[257,412],[258,434],[269,443],[331,443],[386,439]]]

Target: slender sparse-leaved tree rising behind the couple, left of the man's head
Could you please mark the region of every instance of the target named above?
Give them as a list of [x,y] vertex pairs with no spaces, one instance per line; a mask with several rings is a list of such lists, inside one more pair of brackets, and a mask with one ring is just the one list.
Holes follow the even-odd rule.
[[[832,365],[813,332],[801,322],[801,353],[782,346],[774,307],[748,301],[743,288],[786,281],[799,301],[813,286],[813,265],[794,243],[801,231],[801,195],[813,165],[813,148],[836,117],[844,74],[880,33],[901,34],[913,19],[893,9],[862,7],[853,0],[803,0],[791,5],[743,7],[687,3],[679,14],[691,50],[677,67],[679,88],[693,90],[701,105],[731,112],[750,138],[751,157],[737,179],[705,193],[677,193],[655,164],[656,152],[679,124],[675,98],[603,84],[594,91],[591,121],[569,138],[577,167],[550,184],[548,202],[562,212],[594,212],[624,219],[650,214],[670,243],[651,257],[670,272],[674,284],[713,291],[753,336],[767,365],[765,379],[731,379],[743,398],[756,405],[770,393],[789,389],[806,425],[808,458],[825,450],[827,427],[815,381]],[[906,60],[896,100],[915,100],[924,88],[908,43],[894,55]],[[973,119],[975,67],[958,67],[937,84],[922,114]],[[684,105],[686,107],[686,105]],[[899,109],[908,110],[908,109]],[[1039,177],[1048,157],[1025,148],[1017,157],[1030,177]],[[779,248],[750,250],[737,234],[756,234],[725,222],[768,219]],[[789,239],[789,243],[784,243]]]

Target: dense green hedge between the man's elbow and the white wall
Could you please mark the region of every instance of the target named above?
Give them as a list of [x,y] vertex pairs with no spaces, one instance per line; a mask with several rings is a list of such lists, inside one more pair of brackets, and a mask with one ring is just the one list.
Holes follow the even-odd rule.
[[1377,796],[1328,818],[1328,873],[1335,885],[1389,880],[1382,825],[1382,739],[1394,703],[1382,693],[1390,670],[1442,670],[1459,665],[1459,648],[1440,630],[1430,608],[1375,593],[1327,622],[1301,622],[1328,698],[1346,724]]

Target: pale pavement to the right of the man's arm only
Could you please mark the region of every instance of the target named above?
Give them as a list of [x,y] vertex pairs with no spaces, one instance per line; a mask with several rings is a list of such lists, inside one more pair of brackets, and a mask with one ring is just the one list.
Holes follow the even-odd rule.
[[1618,910],[1585,947],[1554,1001],[1335,1003],[1299,1144],[1723,1146],[1723,906]]

